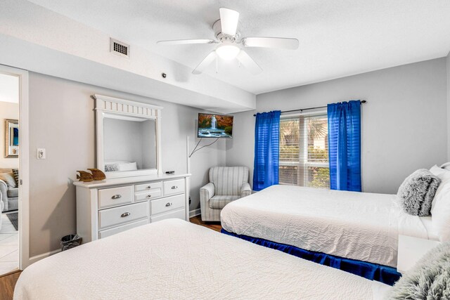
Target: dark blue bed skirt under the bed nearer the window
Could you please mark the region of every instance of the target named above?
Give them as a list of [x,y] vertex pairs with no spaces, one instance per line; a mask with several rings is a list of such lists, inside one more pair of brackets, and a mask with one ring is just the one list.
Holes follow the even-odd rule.
[[224,229],[221,230],[221,233],[232,235],[233,237],[239,237],[240,239],[247,240],[254,244],[276,249],[302,259],[307,259],[308,261],[314,261],[314,263],[320,263],[324,266],[344,270],[345,272],[359,275],[370,280],[383,282],[386,285],[394,285],[394,283],[401,277],[401,274],[397,272],[396,268],[389,266],[368,263],[366,261],[357,261],[356,259],[345,259],[321,252],[308,251],[295,246],[290,246],[288,244],[278,244],[277,242],[271,242],[269,240],[264,240],[257,237],[237,235],[236,233],[230,233]]

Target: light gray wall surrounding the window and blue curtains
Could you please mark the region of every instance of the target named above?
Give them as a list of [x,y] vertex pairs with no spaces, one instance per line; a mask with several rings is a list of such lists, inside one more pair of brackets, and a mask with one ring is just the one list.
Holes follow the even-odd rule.
[[[397,193],[406,176],[447,160],[446,58],[297,86],[257,96],[257,111],[294,110],[352,99],[362,108],[363,189]],[[236,114],[227,164],[253,164],[254,117]]]

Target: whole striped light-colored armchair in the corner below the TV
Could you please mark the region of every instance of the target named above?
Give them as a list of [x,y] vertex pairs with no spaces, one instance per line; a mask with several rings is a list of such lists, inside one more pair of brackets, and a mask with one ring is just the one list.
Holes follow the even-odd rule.
[[252,193],[248,167],[213,167],[210,183],[200,188],[202,221],[220,221],[220,211],[231,201]]

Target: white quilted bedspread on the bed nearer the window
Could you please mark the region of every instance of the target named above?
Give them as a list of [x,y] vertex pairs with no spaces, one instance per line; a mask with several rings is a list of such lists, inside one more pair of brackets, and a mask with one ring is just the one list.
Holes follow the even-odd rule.
[[427,238],[418,216],[395,195],[274,185],[226,205],[232,233],[302,249],[397,267],[399,234]]

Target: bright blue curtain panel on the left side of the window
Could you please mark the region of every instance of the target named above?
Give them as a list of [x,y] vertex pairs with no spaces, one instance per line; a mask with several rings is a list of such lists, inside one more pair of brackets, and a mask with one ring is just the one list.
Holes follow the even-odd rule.
[[280,115],[280,110],[256,115],[253,190],[278,184]]

